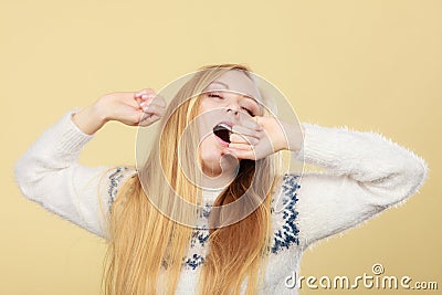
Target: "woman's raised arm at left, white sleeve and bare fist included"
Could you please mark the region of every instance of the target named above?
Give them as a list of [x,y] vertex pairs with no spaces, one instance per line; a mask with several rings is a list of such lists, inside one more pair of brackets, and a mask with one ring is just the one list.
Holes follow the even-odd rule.
[[[150,123],[140,120],[143,106],[135,98],[135,93],[103,96],[87,108],[67,112],[48,128],[14,165],[15,181],[23,196],[106,238],[103,218],[108,215],[120,183],[128,177],[136,177],[136,170],[129,166],[86,167],[78,164],[78,156],[95,133],[110,119],[147,126],[160,117],[161,113],[158,113],[157,118],[154,118],[155,114],[146,116]],[[152,110],[154,103],[149,103]],[[162,110],[162,107],[157,109]]]

